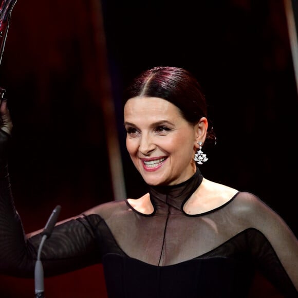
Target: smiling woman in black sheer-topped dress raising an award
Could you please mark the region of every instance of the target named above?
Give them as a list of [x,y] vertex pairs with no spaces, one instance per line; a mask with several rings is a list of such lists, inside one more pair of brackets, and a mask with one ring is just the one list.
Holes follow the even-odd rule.
[[[298,240],[284,220],[255,195],[199,171],[203,144],[215,137],[195,78],[156,67],[135,79],[124,100],[127,151],[149,192],[55,226],[41,255],[45,276],[102,263],[112,298],[214,298],[246,297],[259,270],[284,296],[297,297]],[[7,139],[5,102],[0,111]],[[24,234],[2,156],[0,272],[33,276],[41,231]]]

